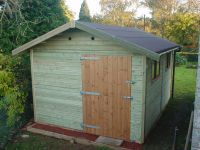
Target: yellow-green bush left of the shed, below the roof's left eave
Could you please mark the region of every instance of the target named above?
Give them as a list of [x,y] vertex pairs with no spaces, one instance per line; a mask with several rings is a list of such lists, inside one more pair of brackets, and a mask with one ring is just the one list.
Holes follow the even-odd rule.
[[[22,92],[13,71],[16,58],[0,54],[0,110],[7,114],[8,126],[14,126],[24,113],[28,93]],[[15,65],[14,65],[15,64]]]

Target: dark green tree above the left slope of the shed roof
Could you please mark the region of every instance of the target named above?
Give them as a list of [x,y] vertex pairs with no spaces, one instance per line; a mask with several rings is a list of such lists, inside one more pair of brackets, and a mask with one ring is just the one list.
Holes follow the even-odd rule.
[[[0,12],[0,49],[6,53],[73,17],[64,0],[17,0],[15,5],[12,0],[6,2],[4,11]],[[13,11],[13,17],[6,13],[7,6]]]

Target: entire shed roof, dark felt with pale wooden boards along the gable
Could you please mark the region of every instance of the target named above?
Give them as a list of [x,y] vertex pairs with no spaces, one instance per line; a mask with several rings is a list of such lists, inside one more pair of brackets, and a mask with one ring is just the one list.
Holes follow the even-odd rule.
[[180,49],[180,46],[137,28],[119,27],[88,22],[72,21],[66,23],[12,51],[13,55],[23,51],[59,34],[70,28],[78,28],[93,35],[112,40],[122,47],[158,60],[168,51]]

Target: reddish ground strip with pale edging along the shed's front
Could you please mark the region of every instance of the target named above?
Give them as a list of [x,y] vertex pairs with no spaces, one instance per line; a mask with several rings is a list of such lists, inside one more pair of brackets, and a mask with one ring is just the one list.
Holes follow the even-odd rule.
[[73,141],[83,145],[106,146],[116,150],[141,150],[142,146],[134,142],[126,142],[112,138],[99,137],[97,135],[84,132],[69,130],[51,125],[33,123],[26,127],[26,130],[32,133],[42,134],[49,137]]

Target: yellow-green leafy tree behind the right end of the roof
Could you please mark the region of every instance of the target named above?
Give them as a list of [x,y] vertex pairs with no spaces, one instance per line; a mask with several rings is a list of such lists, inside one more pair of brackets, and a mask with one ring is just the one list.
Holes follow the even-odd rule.
[[197,47],[199,16],[194,13],[176,13],[166,24],[166,37],[180,45]]

